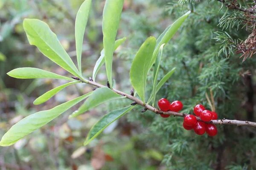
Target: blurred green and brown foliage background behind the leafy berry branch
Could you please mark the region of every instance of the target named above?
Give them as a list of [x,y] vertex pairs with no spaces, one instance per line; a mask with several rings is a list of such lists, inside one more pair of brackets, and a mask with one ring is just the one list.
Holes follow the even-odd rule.
[[[186,0],[181,0],[182,2]],[[14,79],[6,73],[18,67],[35,67],[71,76],[29,45],[22,27],[24,18],[46,22],[76,63],[74,23],[83,0],[0,0],[0,136],[29,114],[50,109],[92,90],[89,85],[65,88],[43,105],[34,99],[63,84],[62,80]],[[82,68],[91,77],[102,50],[104,0],[93,0],[85,31]],[[255,120],[247,97],[254,94],[254,58],[241,62],[239,55],[218,56],[220,45],[213,39],[226,8],[216,0],[125,0],[117,38],[127,37],[114,54],[116,88],[129,93],[129,69],[137,49],[149,36],[158,37],[174,20],[192,10],[175,37],[165,46],[160,77],[176,67],[175,74],[161,88],[157,99],[181,100],[184,112],[194,105],[209,108],[205,94],[213,91],[219,118]],[[245,28],[232,28],[232,36],[244,38]],[[250,75],[248,74],[250,72]],[[152,71],[147,92],[152,85]],[[97,82],[106,84],[105,68]],[[251,91],[252,90],[252,91]],[[76,119],[68,119],[78,106],[21,139],[0,147],[2,170],[249,170],[256,168],[255,128],[218,126],[218,136],[196,136],[182,127],[182,118],[163,119],[137,107],[111,124],[86,147],[90,127],[105,113],[129,105],[126,100],[101,105]]]

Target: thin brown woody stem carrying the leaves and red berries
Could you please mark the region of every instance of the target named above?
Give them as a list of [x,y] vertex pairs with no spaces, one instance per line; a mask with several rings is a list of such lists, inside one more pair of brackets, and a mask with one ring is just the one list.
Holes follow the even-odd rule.
[[[97,88],[101,88],[101,87],[107,87],[105,85],[101,85],[97,82],[93,82],[93,81],[87,81],[87,80],[81,80],[81,82],[83,83],[87,83],[93,86],[96,86]],[[179,117],[185,117],[187,114],[186,113],[178,113],[178,112],[173,112],[173,111],[168,111],[168,112],[164,112],[164,111],[160,111],[157,108],[152,107],[151,105],[143,104],[143,101],[141,101],[140,99],[131,96],[130,94],[126,94],[122,91],[116,90],[116,89],[112,89],[112,91],[116,92],[117,94],[120,94],[122,96],[126,96],[128,99],[136,102],[137,105],[141,105],[143,106],[146,110],[152,111],[154,113],[157,114],[169,114],[172,116],[179,116]],[[134,103],[132,103],[134,104]],[[196,119],[198,119],[198,121],[202,121],[200,119],[200,117],[196,116]],[[249,122],[249,121],[241,121],[241,120],[229,120],[229,119],[220,119],[220,120],[211,120],[210,122],[211,124],[215,124],[215,125],[237,125],[237,126],[241,126],[241,125],[247,125],[247,126],[253,126],[256,127],[256,122]]]

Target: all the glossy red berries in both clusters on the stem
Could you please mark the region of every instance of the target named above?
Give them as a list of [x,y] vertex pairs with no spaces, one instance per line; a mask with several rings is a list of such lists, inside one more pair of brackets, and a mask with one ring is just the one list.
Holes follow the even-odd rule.
[[[158,107],[161,111],[178,112],[183,108],[183,104],[180,101],[174,101],[170,103],[169,100],[163,98],[158,101]],[[204,122],[198,121],[194,115],[188,114],[184,117],[184,129],[194,129],[195,133],[198,135],[203,135],[206,132],[209,136],[215,136],[218,133],[217,127],[215,125],[205,123],[211,120],[217,120],[218,114],[216,112],[206,110],[203,105],[196,105],[194,107],[194,113]],[[170,115],[160,114],[160,116],[166,118]]]

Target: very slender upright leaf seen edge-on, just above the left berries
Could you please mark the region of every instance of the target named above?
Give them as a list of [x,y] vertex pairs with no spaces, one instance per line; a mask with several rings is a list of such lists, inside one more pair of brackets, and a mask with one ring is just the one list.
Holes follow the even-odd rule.
[[157,76],[158,76],[158,72],[159,72],[159,68],[160,68],[160,62],[161,62],[161,59],[162,59],[162,54],[163,54],[163,46],[165,44],[162,44],[160,46],[160,49],[159,49],[159,52],[158,52],[158,57],[156,59],[156,62],[155,62],[155,67],[154,67],[154,82],[153,82],[153,107],[154,107],[154,101],[156,99],[156,88],[157,88]]

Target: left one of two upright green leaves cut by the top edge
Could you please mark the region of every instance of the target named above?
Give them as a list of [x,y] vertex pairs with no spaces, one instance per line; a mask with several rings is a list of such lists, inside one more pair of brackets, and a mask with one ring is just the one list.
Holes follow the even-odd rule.
[[85,0],[80,6],[76,14],[76,23],[75,23],[75,37],[76,37],[76,57],[80,73],[81,71],[81,55],[82,55],[82,45],[84,40],[84,31],[87,25],[91,0]]

